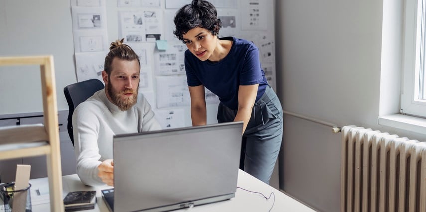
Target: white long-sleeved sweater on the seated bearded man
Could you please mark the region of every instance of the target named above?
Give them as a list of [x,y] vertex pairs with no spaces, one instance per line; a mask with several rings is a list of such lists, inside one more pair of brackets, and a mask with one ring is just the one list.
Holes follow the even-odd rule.
[[98,177],[98,166],[113,159],[114,135],[161,129],[142,93],[134,106],[121,111],[108,100],[105,89],[77,106],[72,123],[77,174],[84,184],[91,186],[104,184]]

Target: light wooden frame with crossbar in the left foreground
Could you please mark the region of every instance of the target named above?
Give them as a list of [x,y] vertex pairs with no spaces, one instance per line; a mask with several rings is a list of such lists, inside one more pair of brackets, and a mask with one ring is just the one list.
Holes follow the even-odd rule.
[[[40,65],[43,98],[44,128],[47,143],[37,147],[0,151],[0,159],[46,155],[47,176],[49,179],[50,211],[63,212],[62,171],[59,146],[58,108],[56,102],[56,83],[53,56],[0,57],[0,66]],[[40,129],[40,128],[38,128]],[[2,132],[0,140],[10,138],[10,130]],[[21,145],[22,146],[22,145]]]

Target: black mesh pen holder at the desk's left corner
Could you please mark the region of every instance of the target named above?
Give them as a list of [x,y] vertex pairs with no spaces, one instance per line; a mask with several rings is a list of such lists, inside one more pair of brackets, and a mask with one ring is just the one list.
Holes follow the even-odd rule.
[[[3,199],[4,212],[12,212],[14,206],[17,207],[14,211],[31,212],[31,184],[28,183],[28,187],[19,190],[14,190],[14,187],[14,182],[5,183],[0,186],[0,195],[1,199]],[[19,204],[20,206],[14,204]]]

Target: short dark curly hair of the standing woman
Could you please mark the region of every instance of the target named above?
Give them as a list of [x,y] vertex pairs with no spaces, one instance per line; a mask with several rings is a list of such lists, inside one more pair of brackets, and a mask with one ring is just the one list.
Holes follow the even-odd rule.
[[201,27],[209,30],[212,35],[219,35],[222,22],[217,18],[216,7],[206,0],[193,0],[191,4],[186,4],[176,13],[174,17],[176,30],[173,34],[179,40],[183,40],[189,30]]

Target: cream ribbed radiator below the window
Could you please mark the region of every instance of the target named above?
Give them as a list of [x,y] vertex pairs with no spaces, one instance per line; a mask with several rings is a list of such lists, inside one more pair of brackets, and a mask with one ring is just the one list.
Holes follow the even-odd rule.
[[341,212],[426,212],[426,142],[342,128]]

